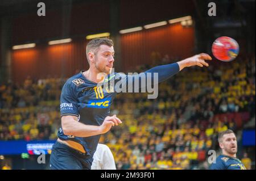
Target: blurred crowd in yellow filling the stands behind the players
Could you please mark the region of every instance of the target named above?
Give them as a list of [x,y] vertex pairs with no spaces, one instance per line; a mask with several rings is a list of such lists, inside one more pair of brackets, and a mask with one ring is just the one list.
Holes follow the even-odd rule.
[[[170,62],[168,56],[161,61]],[[56,139],[64,82],[27,78],[0,85],[0,140]],[[113,102],[111,113],[123,124],[100,142],[112,150],[117,169],[207,169],[219,132],[238,133],[253,119],[255,128],[255,57],[184,69],[159,84],[157,99],[147,95],[122,93]]]

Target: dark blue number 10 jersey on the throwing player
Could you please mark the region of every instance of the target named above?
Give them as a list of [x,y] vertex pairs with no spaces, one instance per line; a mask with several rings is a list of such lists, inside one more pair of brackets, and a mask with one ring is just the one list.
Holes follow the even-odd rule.
[[[158,73],[158,79],[159,82],[161,82],[177,72],[179,72],[179,65],[175,63],[156,66],[145,73]],[[126,84],[126,90],[130,86],[128,79],[131,79],[131,83],[136,79],[139,79],[139,76],[137,75],[121,75],[119,73],[113,73],[109,74],[108,77],[105,78],[105,81],[101,86],[96,82],[92,82],[87,79],[82,72],[69,78],[67,82],[65,82],[61,91],[61,116],[77,116],[79,117],[79,121],[83,124],[100,126],[106,116],[109,116],[110,106],[117,94],[117,92],[113,91],[114,85],[112,85],[112,83],[113,79],[114,83],[115,81],[118,81],[118,79],[115,79],[114,77],[123,77],[122,81]],[[105,83],[109,86],[103,86]],[[58,137],[61,140],[72,140],[78,142],[84,147],[86,155],[89,157],[93,157],[100,139],[100,135],[90,137],[68,136],[63,133],[62,128],[59,129]]]

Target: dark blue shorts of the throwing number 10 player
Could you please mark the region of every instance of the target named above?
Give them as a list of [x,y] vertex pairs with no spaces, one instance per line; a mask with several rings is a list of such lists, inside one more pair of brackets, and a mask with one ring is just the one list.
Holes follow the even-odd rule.
[[56,141],[50,157],[51,170],[90,170],[93,158]]

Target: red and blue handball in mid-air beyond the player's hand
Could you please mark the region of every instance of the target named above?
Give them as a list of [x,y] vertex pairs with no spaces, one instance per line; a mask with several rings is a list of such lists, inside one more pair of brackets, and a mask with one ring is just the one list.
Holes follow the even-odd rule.
[[213,42],[212,53],[218,60],[229,62],[237,57],[239,45],[237,41],[231,37],[221,36]]

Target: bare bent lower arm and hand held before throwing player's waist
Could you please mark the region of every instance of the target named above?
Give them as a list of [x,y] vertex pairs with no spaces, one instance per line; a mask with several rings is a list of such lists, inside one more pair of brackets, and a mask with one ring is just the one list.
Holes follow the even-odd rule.
[[89,137],[108,132],[114,125],[121,124],[122,121],[116,115],[107,116],[100,126],[85,125],[77,121],[76,116],[62,116],[61,127],[65,135],[77,137]]

